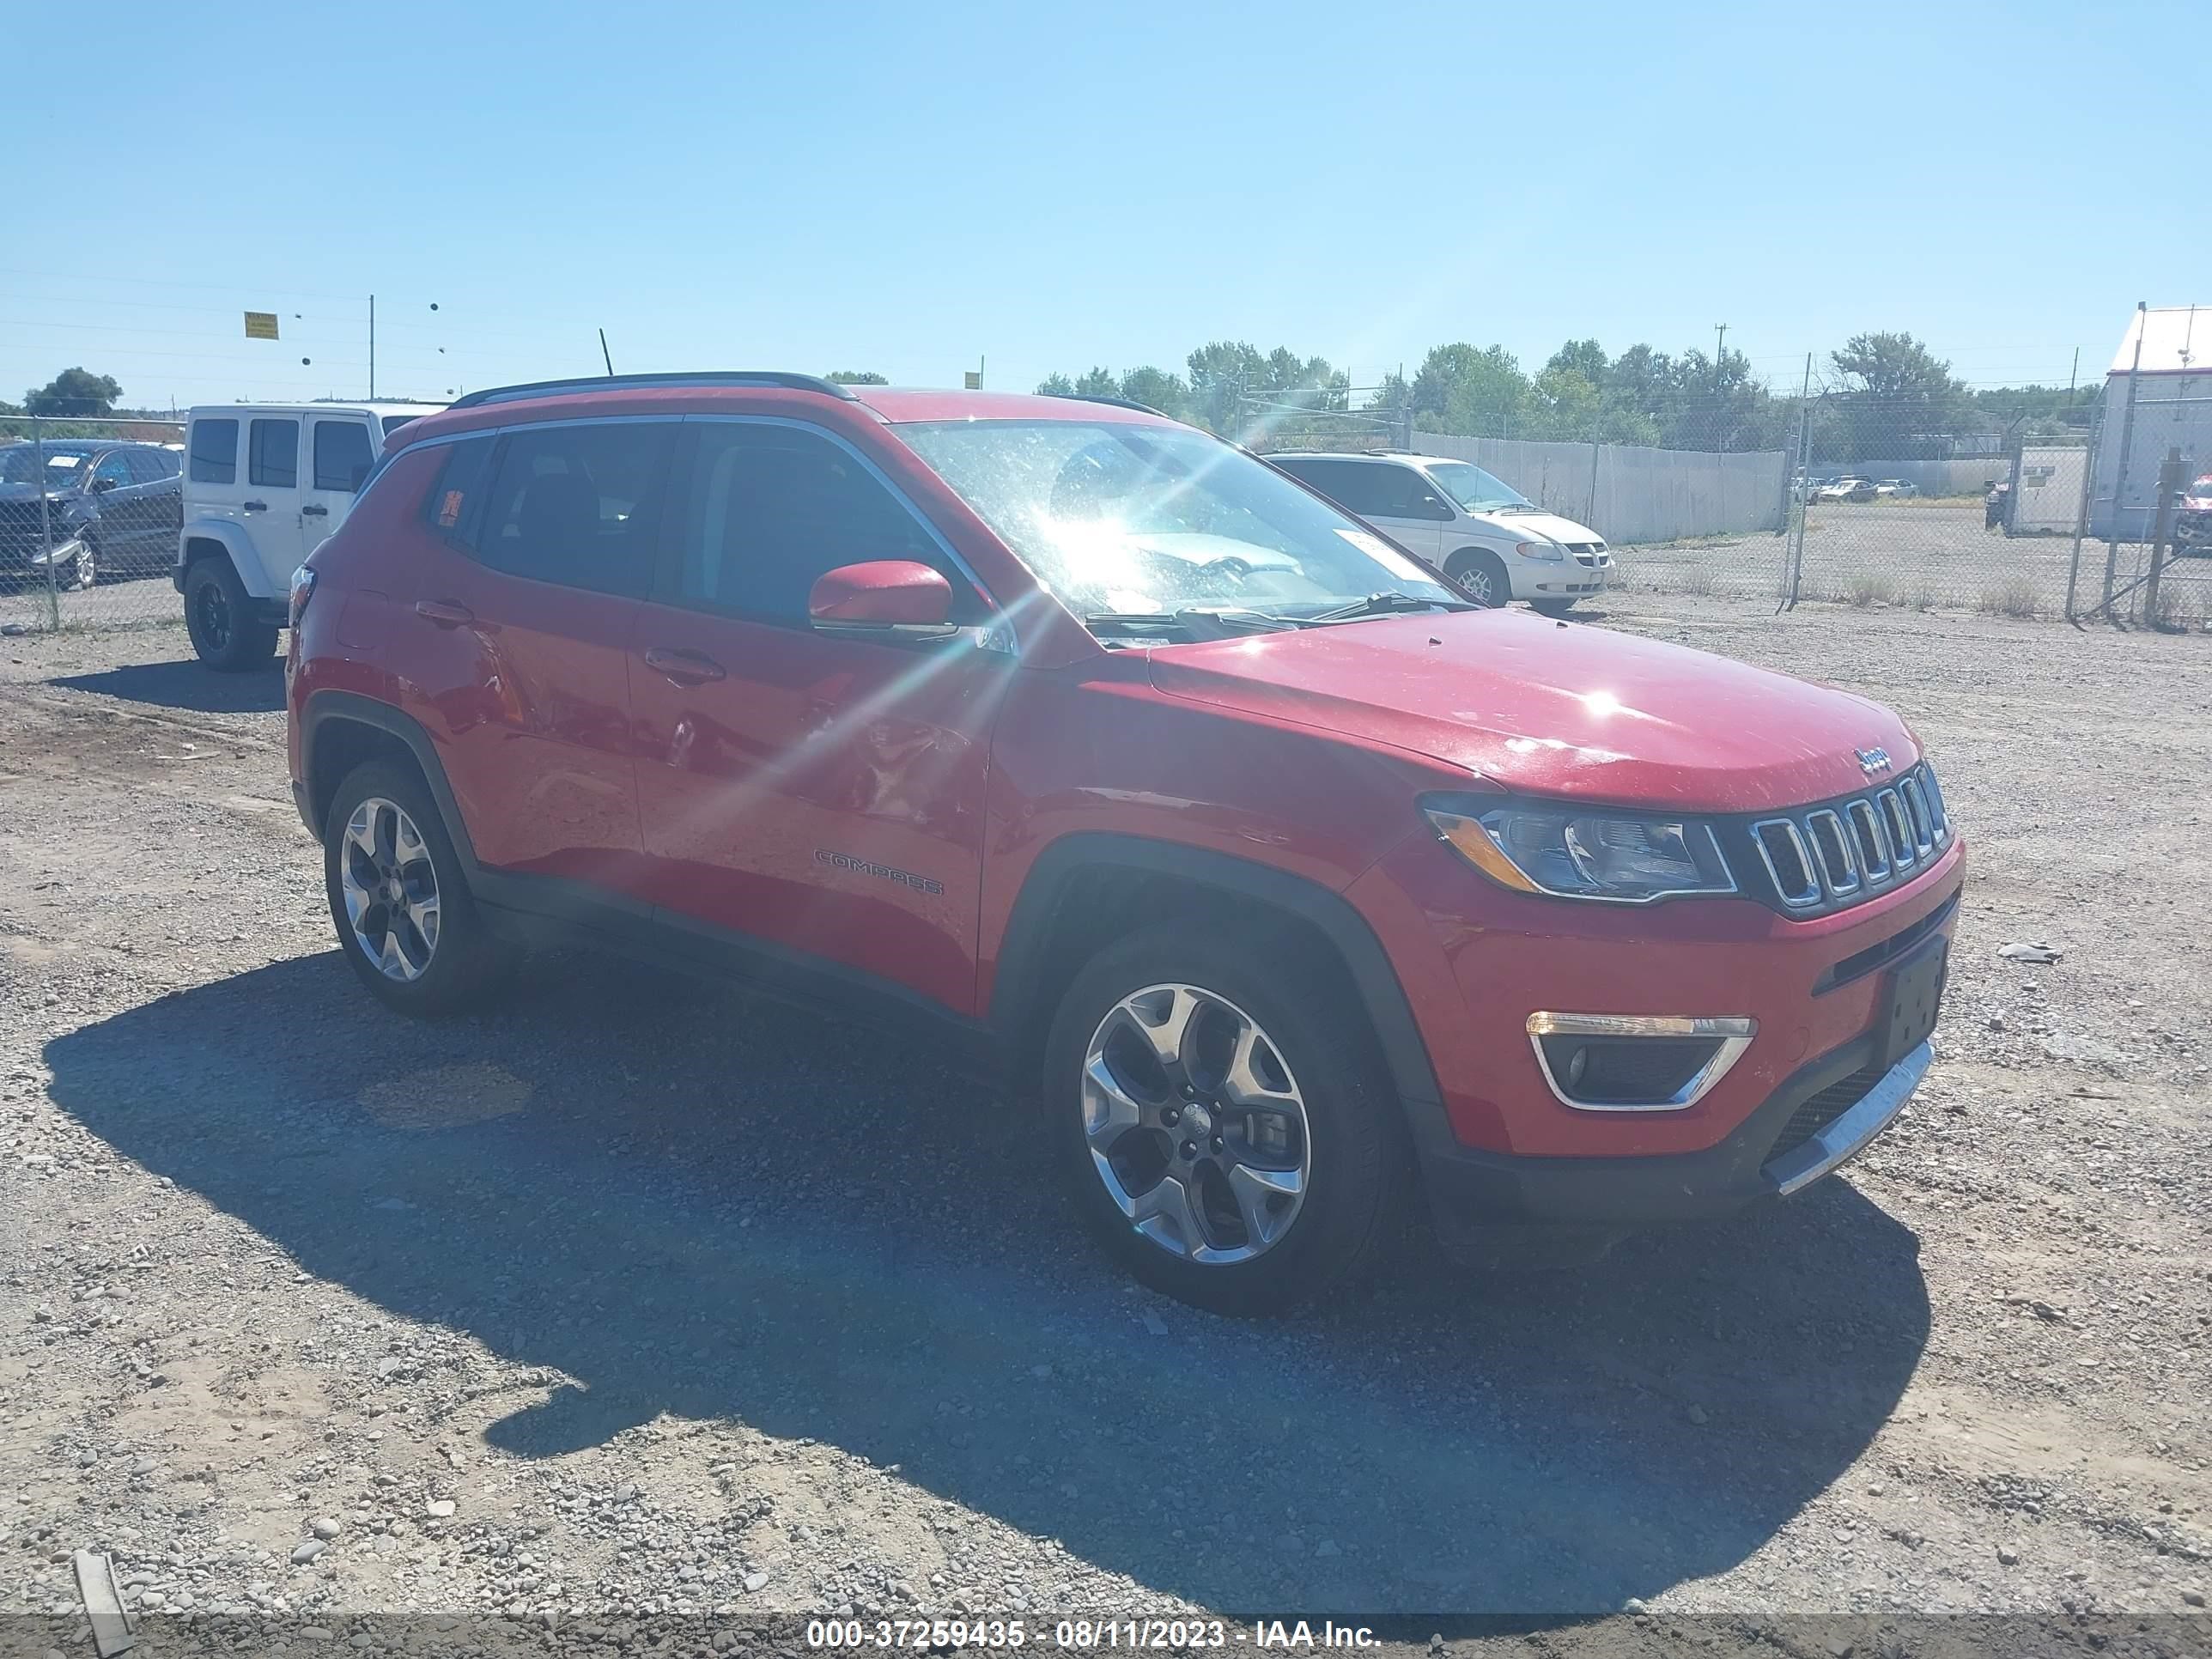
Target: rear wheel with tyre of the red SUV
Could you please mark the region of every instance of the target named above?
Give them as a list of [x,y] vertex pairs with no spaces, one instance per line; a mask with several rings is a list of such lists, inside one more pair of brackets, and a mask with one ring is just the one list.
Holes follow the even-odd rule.
[[338,785],[323,821],[323,887],[345,960],[403,1013],[473,1006],[511,964],[411,765],[367,761]]

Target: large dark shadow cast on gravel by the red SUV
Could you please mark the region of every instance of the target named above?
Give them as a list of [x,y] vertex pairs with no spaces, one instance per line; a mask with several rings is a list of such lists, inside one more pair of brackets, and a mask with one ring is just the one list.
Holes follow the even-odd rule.
[[[1721,1573],[1865,1451],[1929,1334],[1913,1234],[1845,1181],[1571,1276],[1416,1259],[1303,1321],[1194,1314],[1073,1239],[1037,1137],[936,1062],[611,962],[420,1024],[332,951],[46,1062],[305,1272],[571,1378],[495,1447],[743,1422],[1221,1610],[1588,1613]],[[467,1425],[515,1398],[465,1380],[411,1387]]]

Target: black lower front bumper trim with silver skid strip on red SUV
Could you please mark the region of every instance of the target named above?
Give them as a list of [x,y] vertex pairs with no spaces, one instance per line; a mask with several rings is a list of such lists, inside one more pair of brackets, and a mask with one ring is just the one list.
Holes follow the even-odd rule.
[[1712,1221],[1801,1192],[1858,1157],[1905,1110],[1931,1048],[1878,1071],[1867,1033],[1798,1068],[1728,1139],[1659,1157],[1515,1157],[1458,1141],[1420,1146],[1447,1243],[1491,1223],[1637,1228]]

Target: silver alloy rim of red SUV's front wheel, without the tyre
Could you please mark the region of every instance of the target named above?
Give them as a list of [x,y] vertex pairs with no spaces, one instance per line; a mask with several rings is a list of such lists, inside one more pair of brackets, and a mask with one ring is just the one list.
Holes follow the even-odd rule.
[[1148,984],[1084,1057],[1084,1141],[1106,1197],[1170,1256],[1250,1261],[1290,1232],[1312,1179],[1305,1097],[1281,1048],[1228,998]]

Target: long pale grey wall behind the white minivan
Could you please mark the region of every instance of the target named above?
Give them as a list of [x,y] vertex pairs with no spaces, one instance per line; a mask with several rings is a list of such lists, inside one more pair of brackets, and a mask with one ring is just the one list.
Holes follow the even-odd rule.
[[1425,456],[1471,460],[1540,507],[1588,524],[1608,542],[1781,531],[1790,456],[1781,449],[1708,453],[1637,445],[1557,445],[1416,431]]

